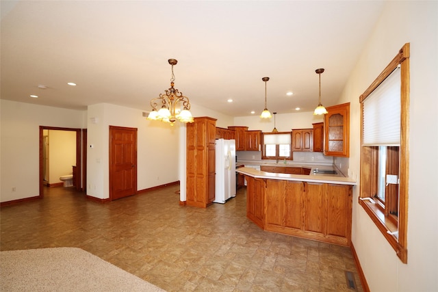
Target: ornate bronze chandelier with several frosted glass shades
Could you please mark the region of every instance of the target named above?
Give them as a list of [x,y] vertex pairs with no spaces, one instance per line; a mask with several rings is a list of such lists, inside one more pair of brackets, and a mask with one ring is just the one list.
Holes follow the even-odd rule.
[[[189,111],[189,98],[187,96],[183,96],[182,92],[179,92],[179,90],[173,87],[175,85],[173,66],[176,65],[178,61],[176,59],[169,59],[168,62],[170,65],[172,65],[170,88],[165,90],[165,93],[160,93],[158,97],[151,100],[152,111],[149,113],[147,119],[170,122],[172,126],[177,120],[180,122],[193,122],[192,113]],[[161,107],[157,110],[158,106]]]

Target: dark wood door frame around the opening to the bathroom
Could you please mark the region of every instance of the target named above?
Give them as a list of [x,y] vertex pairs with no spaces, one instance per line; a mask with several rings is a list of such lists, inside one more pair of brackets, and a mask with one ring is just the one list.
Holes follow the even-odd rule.
[[[44,147],[44,137],[43,133],[44,130],[57,130],[57,131],[75,131],[76,132],[76,169],[79,171],[77,181],[79,185],[77,185],[77,189],[79,191],[83,191],[83,185],[81,185],[81,181],[83,182],[84,176],[86,176],[86,160],[81,159],[83,157],[81,155],[81,146],[85,145],[85,148],[83,149],[84,156],[86,154],[87,148],[86,144],[81,143],[83,141],[81,139],[81,133],[83,133],[83,129],[75,129],[75,128],[62,128],[62,127],[47,127],[47,126],[40,126],[40,194],[39,197],[44,197],[44,169],[42,167],[43,165],[43,147]],[[85,130],[86,134],[86,130]],[[86,137],[86,135],[85,135]],[[86,157],[86,156],[85,156]],[[83,163],[82,163],[83,162]]]

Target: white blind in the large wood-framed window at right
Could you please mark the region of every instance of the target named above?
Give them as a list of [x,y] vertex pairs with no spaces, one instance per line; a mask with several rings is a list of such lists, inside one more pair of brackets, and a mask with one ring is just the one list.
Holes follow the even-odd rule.
[[363,101],[363,146],[400,146],[400,68]]

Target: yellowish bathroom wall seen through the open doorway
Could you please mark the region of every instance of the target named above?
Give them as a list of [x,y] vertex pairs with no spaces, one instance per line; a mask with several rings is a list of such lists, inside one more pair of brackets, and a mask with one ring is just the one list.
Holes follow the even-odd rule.
[[60,176],[73,174],[76,165],[76,132],[49,130],[49,183],[61,183]]

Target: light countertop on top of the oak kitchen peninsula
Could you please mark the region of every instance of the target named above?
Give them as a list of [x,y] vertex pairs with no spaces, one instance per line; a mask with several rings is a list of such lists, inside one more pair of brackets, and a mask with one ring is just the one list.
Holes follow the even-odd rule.
[[[245,164],[245,163],[244,163]],[[259,164],[254,164],[259,165]],[[269,164],[261,164],[261,165],[269,165]],[[274,163],[275,165],[275,163]],[[300,167],[298,165],[292,164],[281,164],[278,163],[276,166],[289,166],[289,167]],[[305,168],[309,168],[309,166],[302,166]],[[333,166],[331,165],[313,165],[311,167],[311,174],[279,174],[272,172],[262,172],[261,170],[255,170],[254,168],[237,168],[235,171],[240,174],[245,174],[248,176],[253,176],[255,178],[268,178],[268,179],[280,179],[285,181],[307,181],[313,183],[335,183],[337,185],[357,185],[357,182],[350,177],[345,177],[342,174],[315,174],[313,173],[313,169],[318,168],[320,170],[333,170]]]

